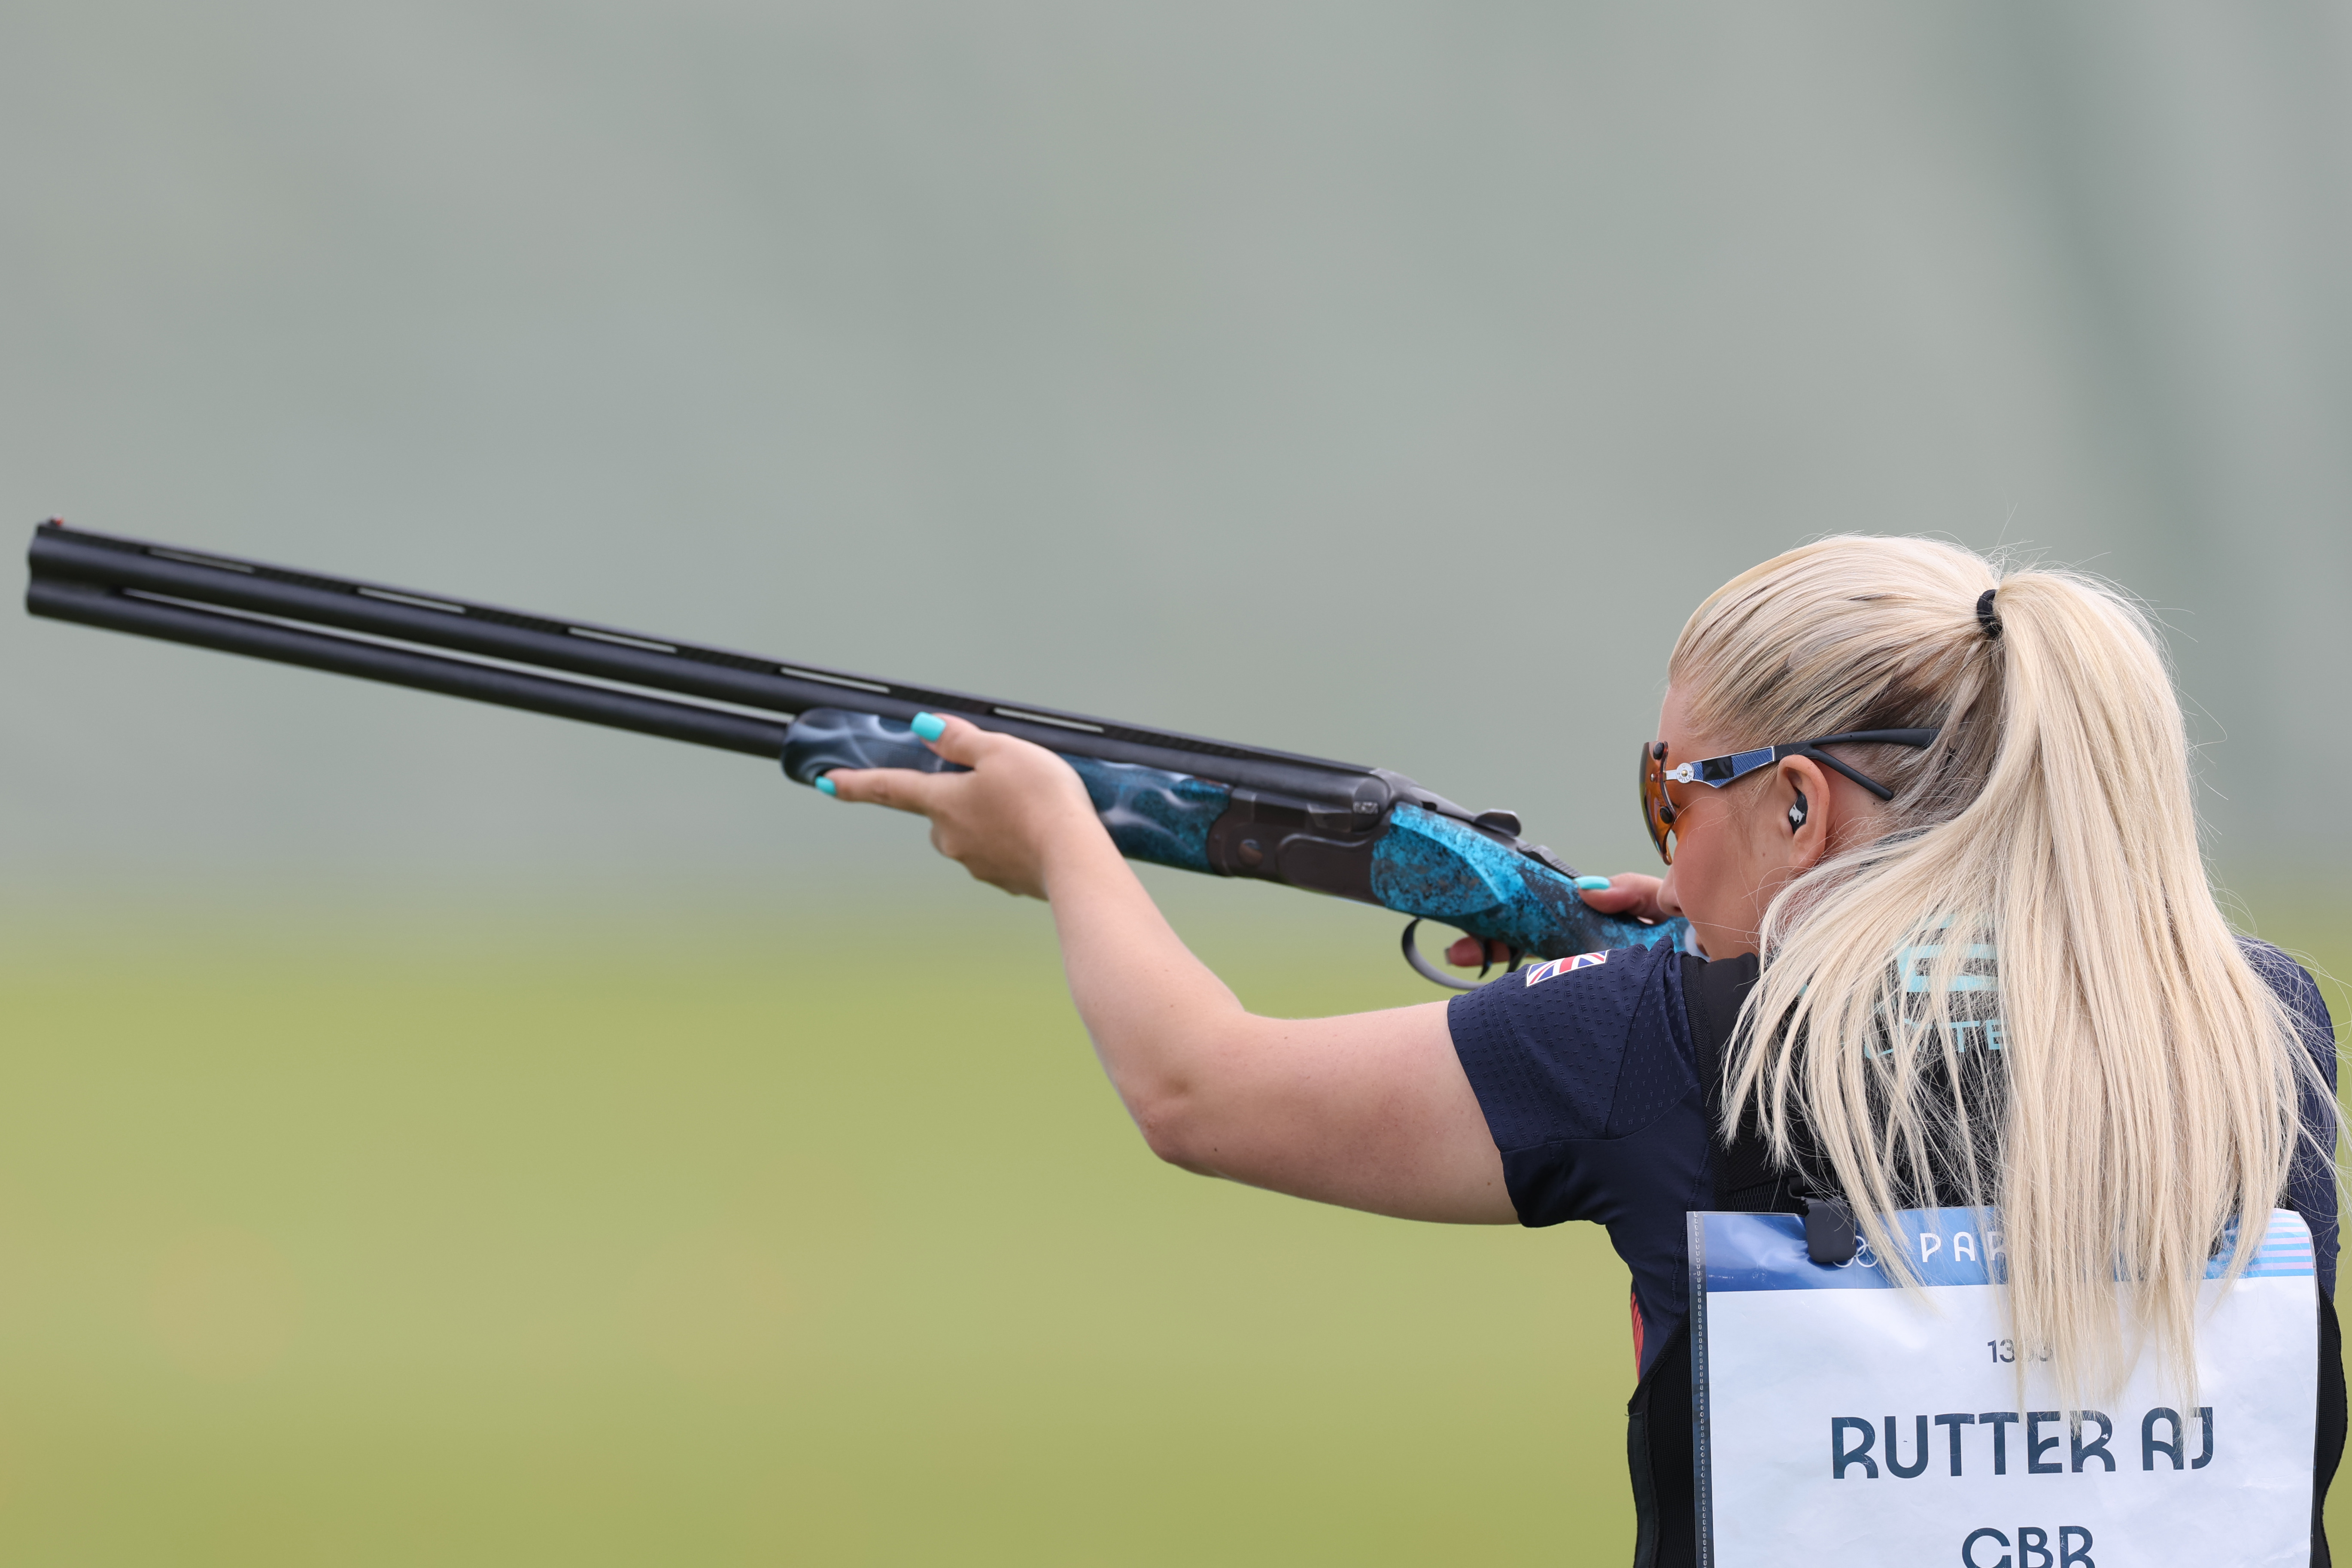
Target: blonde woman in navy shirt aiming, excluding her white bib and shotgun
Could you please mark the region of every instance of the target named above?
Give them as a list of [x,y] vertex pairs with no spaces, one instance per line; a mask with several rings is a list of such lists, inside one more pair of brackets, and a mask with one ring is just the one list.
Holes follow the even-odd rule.
[[[2074,1474],[2084,1455],[2117,1469],[2082,1422],[2105,1422],[2086,1403],[2136,1368],[2192,1392],[2209,1455],[2230,1420],[2317,1408],[2307,1490],[2232,1493],[2223,1512],[2310,1497],[2326,1561],[2319,1502],[2343,1448],[2333,1027],[2312,978],[2216,907],[2180,701],[2147,621],[2112,590],[2002,576],[1917,538],[1828,538],[1740,574],[1684,625],[1642,745],[1665,877],[1585,896],[1689,917],[1705,957],[1585,954],[1345,1018],[1244,1011],[1051,752],[960,719],[917,729],[971,771],[837,771],[837,795],[927,816],[974,877],[1051,903],[1077,1011],[1155,1154],[1414,1220],[1609,1227],[1642,1366],[1637,1561],[1691,1563],[1703,1530],[1686,1218],[1820,1197],[1851,1206],[1889,1260],[1907,1258],[1900,1211],[1997,1211],[2011,1338],[2072,1413]],[[1456,961],[1479,957],[1456,945]],[[2319,1354],[2293,1396],[2310,1403],[2216,1418],[2194,1403],[2206,1281],[2249,1269],[2274,1206],[2312,1239]],[[1891,1276],[1919,1284],[1907,1262]],[[2027,1415],[2058,1420],[1985,1413],[1971,1483],[1987,1458],[1999,1476],[2025,1469],[1999,1443]],[[1893,1474],[1919,1474],[1926,1420]],[[2164,1441],[2180,1415],[2147,1420],[2145,1448],[2117,1443],[2117,1488],[2154,1486],[2164,1455],[2180,1467]],[[1896,1418],[1886,1434],[1893,1465]],[[1964,1427],[1950,1439],[1962,1476]],[[2034,1472],[2060,1465],[2039,1455]],[[1846,1481],[1863,1460],[1839,1460],[1846,1490],[1830,1495],[1870,1495]],[[2018,1563],[2056,1563],[2051,1540],[2093,1563],[2089,1523],[2006,1514],[1964,1559],[1994,1563],[2011,1533]]]

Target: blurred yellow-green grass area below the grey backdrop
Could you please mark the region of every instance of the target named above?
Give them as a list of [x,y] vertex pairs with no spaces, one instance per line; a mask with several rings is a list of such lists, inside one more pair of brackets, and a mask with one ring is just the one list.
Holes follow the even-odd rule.
[[[1371,912],[1176,891],[1258,1009],[1423,997]],[[964,903],[896,943],[760,905],[7,929],[0,1556],[1630,1556],[1597,1227],[1155,1164],[1042,910]],[[2352,969],[2340,914],[2270,924]]]

